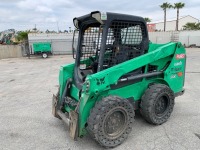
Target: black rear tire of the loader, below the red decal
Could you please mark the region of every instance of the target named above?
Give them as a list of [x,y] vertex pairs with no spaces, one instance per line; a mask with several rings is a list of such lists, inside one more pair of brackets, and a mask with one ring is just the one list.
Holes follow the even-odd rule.
[[[161,114],[156,114],[156,104],[164,98],[165,107]],[[140,112],[151,124],[160,125],[168,120],[174,107],[174,92],[164,84],[151,85],[141,99]]]

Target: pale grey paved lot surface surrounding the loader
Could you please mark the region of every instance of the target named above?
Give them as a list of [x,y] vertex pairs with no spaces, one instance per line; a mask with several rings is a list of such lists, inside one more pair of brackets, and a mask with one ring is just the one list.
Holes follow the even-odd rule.
[[[71,56],[0,60],[0,149],[103,149],[90,136],[73,141],[51,115],[58,72]],[[176,98],[171,118],[148,124],[137,114],[129,138],[116,150],[200,150],[200,49],[187,49],[186,92]]]

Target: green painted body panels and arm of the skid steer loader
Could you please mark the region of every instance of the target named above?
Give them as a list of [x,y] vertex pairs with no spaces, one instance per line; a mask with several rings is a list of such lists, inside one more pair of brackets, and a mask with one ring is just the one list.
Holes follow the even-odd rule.
[[[118,95],[123,98],[133,97],[135,101],[140,100],[144,91],[150,83],[162,83],[168,85],[175,93],[183,89],[184,72],[185,72],[185,49],[180,43],[153,44],[150,43],[148,53],[131,59],[124,63],[118,64],[106,70],[97,72],[86,77],[82,85],[82,93],[79,107],[79,136],[86,132],[85,125],[89,116],[90,110],[94,107],[96,101],[100,101],[108,95]],[[163,69],[169,63],[163,75],[156,78],[144,78],[140,82],[131,84],[119,89],[112,90],[111,85],[117,84],[119,78],[141,67],[147,67],[149,64],[156,65],[158,70]],[[60,96],[63,93],[66,81],[73,77],[74,64],[62,66],[59,75]],[[182,76],[177,73],[182,72]],[[173,76],[176,75],[176,76]],[[179,74],[180,75],[180,74]],[[86,85],[89,84],[89,87]],[[79,101],[79,90],[73,84],[70,90],[70,95],[75,100]],[[74,108],[65,106],[65,111],[70,111]]]

